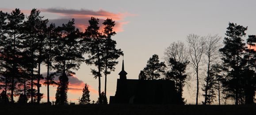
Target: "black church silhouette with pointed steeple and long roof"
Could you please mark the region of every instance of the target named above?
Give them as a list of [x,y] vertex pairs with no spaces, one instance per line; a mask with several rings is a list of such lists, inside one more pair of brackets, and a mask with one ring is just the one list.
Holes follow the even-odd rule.
[[127,79],[122,60],[115,96],[109,104],[180,104],[174,81]]

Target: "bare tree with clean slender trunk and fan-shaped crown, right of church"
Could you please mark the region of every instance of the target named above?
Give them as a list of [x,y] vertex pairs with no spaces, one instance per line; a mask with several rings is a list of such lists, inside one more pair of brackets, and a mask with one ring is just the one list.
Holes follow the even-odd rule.
[[196,72],[196,105],[198,105],[198,94],[199,94],[199,67],[201,64],[201,58],[205,52],[206,37],[200,37],[195,34],[189,34],[187,36],[187,42],[189,45],[189,55],[192,67]]

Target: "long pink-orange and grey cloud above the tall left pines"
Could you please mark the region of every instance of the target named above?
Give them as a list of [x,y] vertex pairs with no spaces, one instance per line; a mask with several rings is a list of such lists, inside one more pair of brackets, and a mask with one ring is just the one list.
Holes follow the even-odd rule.
[[118,22],[118,21],[124,21],[123,18],[126,18],[127,16],[138,16],[137,14],[130,14],[128,12],[125,12],[125,13],[118,12],[117,14],[115,14],[109,11],[105,11],[103,9],[99,9],[99,11],[92,11],[92,10],[85,10],[85,9],[73,10],[73,9],[49,8],[49,9],[41,9],[41,11],[62,16],[63,18],[50,20],[50,22],[53,22],[56,25],[62,25],[62,23],[65,24],[72,18],[75,18],[76,28],[78,28],[80,31],[83,31],[83,32],[88,27],[89,25],[88,21],[91,19],[91,17],[99,18],[100,32],[103,29],[102,23],[107,18],[111,18],[113,21],[115,21],[115,27],[114,27],[115,32],[122,32],[123,31],[122,25],[127,24],[129,22]]

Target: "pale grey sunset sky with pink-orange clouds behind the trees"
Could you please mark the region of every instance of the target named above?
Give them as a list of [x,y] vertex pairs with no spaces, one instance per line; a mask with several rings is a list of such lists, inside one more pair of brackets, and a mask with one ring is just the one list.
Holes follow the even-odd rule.
[[[0,11],[10,13],[19,8],[28,16],[33,8],[37,8],[41,16],[45,16],[44,19],[48,18],[49,23],[59,26],[75,18],[75,26],[80,31],[86,29],[92,16],[100,19],[100,25],[106,18],[112,18],[117,32],[112,39],[116,40],[116,47],[124,53],[127,79],[138,79],[139,72],[153,54],[158,54],[160,61],[164,61],[164,49],[178,40],[187,44],[188,34],[218,34],[224,38],[229,22],[233,22],[248,26],[244,40],[248,35],[255,35],[255,4],[255,0],[2,0]],[[109,96],[115,95],[118,73],[122,69],[122,57],[118,61],[115,72],[111,72],[107,78],[108,101]],[[84,83],[89,85],[91,102],[97,101],[98,79],[93,78],[90,68],[95,67],[84,63],[78,71],[74,71],[76,75],[69,78],[69,102],[78,103]],[[44,66],[41,72],[46,75]],[[103,81],[102,78],[102,91]],[[190,92],[184,87],[183,97],[187,103],[194,104],[196,85],[191,83],[191,86]],[[46,86],[41,87],[45,96],[46,90]],[[50,90],[51,101],[54,101],[56,86]],[[201,103],[202,92],[199,95]],[[42,101],[46,102],[47,97]]]

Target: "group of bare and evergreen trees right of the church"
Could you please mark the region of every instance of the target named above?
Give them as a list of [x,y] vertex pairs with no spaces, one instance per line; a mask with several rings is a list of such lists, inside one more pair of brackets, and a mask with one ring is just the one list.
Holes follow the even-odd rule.
[[[168,66],[159,62],[158,55],[154,54],[140,72],[139,79],[173,80],[182,97],[183,87],[186,84],[190,87],[191,77],[195,76],[196,104],[199,104],[199,90],[203,91],[203,104],[212,104],[216,100],[218,104],[228,104],[229,100],[234,104],[252,104],[256,91],[256,36],[249,35],[243,43],[246,30],[247,27],[229,23],[224,45],[218,35],[189,34],[188,47],[179,41],[165,49],[164,60]],[[195,74],[186,73],[188,66]],[[180,101],[186,103],[184,98]]]

